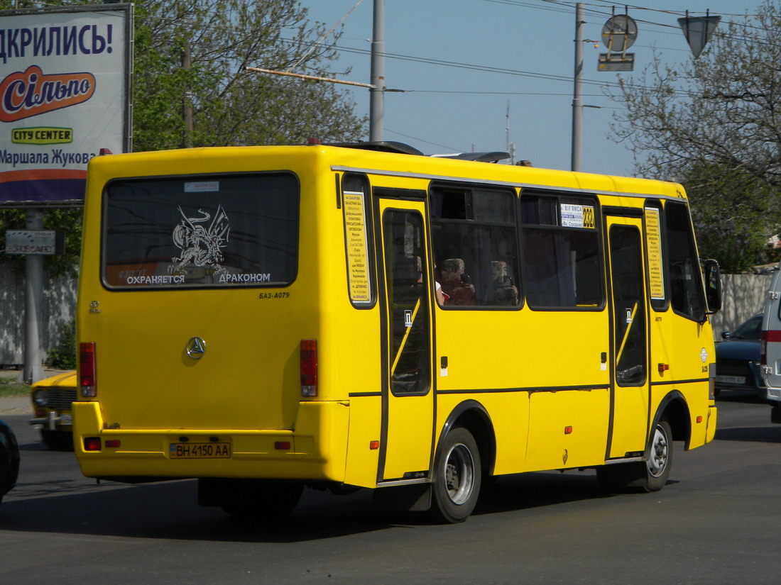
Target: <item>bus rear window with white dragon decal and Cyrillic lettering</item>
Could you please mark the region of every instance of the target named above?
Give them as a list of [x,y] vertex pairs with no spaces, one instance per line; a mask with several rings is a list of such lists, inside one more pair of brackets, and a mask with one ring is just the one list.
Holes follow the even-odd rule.
[[104,200],[109,288],[286,286],[298,267],[290,173],[116,180]]

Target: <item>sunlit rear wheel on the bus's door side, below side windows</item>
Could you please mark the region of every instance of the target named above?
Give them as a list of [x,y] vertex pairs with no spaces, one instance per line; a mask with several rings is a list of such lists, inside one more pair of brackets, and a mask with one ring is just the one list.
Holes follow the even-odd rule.
[[433,477],[429,515],[440,523],[463,522],[480,495],[480,450],[472,434],[455,427],[444,438]]

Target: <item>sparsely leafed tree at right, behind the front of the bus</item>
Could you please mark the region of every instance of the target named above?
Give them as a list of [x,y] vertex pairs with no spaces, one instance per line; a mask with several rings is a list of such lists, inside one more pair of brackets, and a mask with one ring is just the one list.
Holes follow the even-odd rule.
[[[683,66],[658,56],[612,95],[617,140],[641,176],[677,180],[692,202],[702,256],[729,271],[769,262],[781,203],[781,5],[722,23]],[[623,109],[623,108],[626,109]]]

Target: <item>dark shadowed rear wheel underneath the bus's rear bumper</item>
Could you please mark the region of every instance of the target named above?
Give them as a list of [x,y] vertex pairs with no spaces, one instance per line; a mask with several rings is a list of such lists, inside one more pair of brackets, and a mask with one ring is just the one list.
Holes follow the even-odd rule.
[[293,512],[303,491],[298,482],[235,480],[223,491],[219,507],[237,518],[278,520]]

